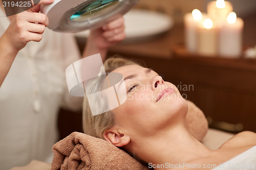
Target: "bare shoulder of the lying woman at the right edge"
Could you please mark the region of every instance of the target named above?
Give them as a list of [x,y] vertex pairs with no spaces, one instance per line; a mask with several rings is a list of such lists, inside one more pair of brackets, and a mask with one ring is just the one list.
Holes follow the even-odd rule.
[[256,145],[256,133],[251,131],[244,131],[234,135],[228,141],[222,144],[229,147],[241,147],[245,145]]

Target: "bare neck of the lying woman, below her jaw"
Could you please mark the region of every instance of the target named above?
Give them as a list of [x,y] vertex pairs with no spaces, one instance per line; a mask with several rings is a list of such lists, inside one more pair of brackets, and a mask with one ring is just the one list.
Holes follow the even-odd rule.
[[139,158],[155,165],[183,164],[213,152],[191,136],[184,124],[143,138],[138,143],[132,143],[131,148]]

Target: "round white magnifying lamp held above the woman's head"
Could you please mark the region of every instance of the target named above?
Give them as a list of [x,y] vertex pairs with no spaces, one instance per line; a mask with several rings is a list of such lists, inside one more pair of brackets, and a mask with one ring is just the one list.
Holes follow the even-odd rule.
[[99,28],[128,12],[139,0],[55,0],[40,11],[49,18],[48,28],[79,32]]

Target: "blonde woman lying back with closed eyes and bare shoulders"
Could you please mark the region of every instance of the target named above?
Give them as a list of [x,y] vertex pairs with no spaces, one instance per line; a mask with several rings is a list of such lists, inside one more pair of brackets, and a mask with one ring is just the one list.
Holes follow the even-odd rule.
[[[187,102],[175,85],[164,81],[157,72],[122,58],[110,58],[104,67],[106,72],[123,75],[127,100],[111,111],[92,116],[85,98],[83,130],[86,134],[113,143],[155,165],[155,169],[163,169],[157,165],[166,163],[190,166],[165,169],[211,169],[205,165],[220,165],[256,145],[256,134],[246,131],[234,135],[218,150],[207,149],[188,132]],[[137,98],[139,95],[147,98]]]

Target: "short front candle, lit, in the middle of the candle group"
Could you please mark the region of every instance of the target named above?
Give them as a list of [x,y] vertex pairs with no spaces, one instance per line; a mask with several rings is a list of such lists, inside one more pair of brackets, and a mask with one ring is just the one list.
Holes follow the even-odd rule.
[[204,20],[198,28],[198,50],[203,56],[215,56],[217,54],[217,32],[211,19]]

